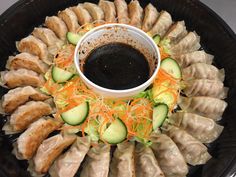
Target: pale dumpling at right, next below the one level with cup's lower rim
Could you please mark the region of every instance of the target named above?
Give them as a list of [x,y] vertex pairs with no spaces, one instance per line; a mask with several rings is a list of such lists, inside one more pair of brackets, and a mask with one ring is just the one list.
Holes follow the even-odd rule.
[[212,97],[180,97],[179,106],[187,112],[197,113],[217,121],[222,118],[227,103]]

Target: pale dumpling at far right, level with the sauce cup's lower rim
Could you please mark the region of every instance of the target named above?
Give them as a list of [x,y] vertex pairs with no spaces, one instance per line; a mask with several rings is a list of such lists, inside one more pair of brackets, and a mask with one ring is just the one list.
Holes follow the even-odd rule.
[[184,85],[185,88],[183,91],[188,97],[209,96],[224,99],[228,92],[223,82],[219,80],[195,79],[185,81]]

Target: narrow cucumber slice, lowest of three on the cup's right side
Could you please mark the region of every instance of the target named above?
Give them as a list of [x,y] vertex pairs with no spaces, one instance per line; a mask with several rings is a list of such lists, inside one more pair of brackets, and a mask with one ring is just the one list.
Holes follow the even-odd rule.
[[158,104],[153,108],[153,118],[152,118],[152,125],[153,130],[156,130],[158,127],[160,127],[163,122],[165,121],[167,115],[169,112],[169,108],[166,104],[161,103]]

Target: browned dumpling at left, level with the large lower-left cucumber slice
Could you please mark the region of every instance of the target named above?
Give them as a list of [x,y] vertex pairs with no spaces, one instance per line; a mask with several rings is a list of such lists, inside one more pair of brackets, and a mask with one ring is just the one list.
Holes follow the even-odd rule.
[[52,114],[52,107],[42,101],[30,101],[25,105],[19,106],[9,118],[3,130],[6,133],[21,132],[25,130],[31,123],[35,122],[43,116]]

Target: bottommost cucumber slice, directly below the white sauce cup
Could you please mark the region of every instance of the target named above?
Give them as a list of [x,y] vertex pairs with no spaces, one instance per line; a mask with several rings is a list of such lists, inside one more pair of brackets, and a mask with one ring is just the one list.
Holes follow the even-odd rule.
[[104,131],[102,139],[110,144],[119,144],[126,139],[127,133],[127,127],[124,122],[119,118],[116,118],[115,121]]

